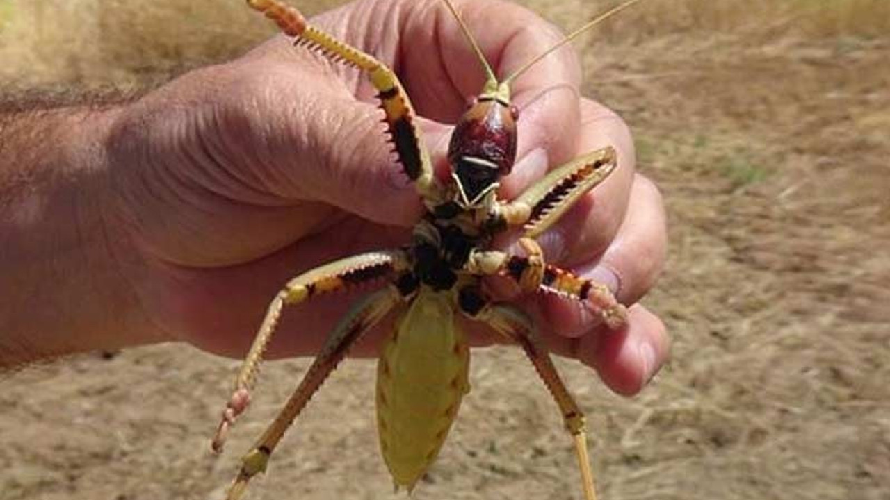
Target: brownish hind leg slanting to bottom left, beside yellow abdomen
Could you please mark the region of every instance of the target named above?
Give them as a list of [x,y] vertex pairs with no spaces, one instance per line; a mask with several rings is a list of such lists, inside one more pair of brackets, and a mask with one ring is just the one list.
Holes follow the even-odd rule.
[[303,411],[303,407],[318,391],[328,375],[344,359],[346,352],[369,329],[374,327],[380,319],[383,319],[392,307],[402,301],[402,295],[396,286],[387,286],[369,295],[364,300],[356,303],[352,310],[346,313],[340,323],[328,336],[328,341],[321,349],[318,357],[312,362],[309,371],[303,376],[303,381],[296,388],[290,399],[287,399],[285,407],[275,417],[253,448],[241,459],[241,469],[238,476],[232,482],[227,500],[238,500],[247,488],[247,482],[257,473],[264,472],[269,463],[269,457],[279,440],[284,436],[287,428],[294,422],[297,415]]

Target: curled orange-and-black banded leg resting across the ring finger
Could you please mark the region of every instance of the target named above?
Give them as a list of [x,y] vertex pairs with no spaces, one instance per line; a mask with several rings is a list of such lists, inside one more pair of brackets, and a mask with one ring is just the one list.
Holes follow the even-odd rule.
[[615,299],[608,286],[544,263],[540,247],[530,238],[522,238],[520,243],[525,246],[528,256],[498,251],[478,252],[470,256],[467,271],[477,276],[506,276],[525,291],[543,289],[585,302],[600,315],[607,327],[615,330],[625,326],[627,308]]

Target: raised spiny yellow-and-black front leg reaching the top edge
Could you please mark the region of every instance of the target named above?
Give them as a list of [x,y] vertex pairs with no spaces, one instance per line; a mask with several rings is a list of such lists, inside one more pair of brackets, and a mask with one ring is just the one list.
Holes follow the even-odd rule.
[[303,14],[278,0],[248,0],[247,4],[275,21],[287,36],[297,38],[297,45],[320,52],[330,60],[343,62],[368,72],[371,85],[377,90],[380,107],[386,114],[386,133],[402,169],[414,181],[417,193],[426,206],[439,206],[447,200],[439,181],[433,175],[433,162],[424,147],[420,129],[414,124],[415,112],[399,77],[374,57],[334,36],[308,24]]

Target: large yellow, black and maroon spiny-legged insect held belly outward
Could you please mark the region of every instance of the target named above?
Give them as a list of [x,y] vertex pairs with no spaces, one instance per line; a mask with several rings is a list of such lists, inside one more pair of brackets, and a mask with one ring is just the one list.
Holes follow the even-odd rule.
[[[391,69],[307,24],[303,15],[287,4],[247,0],[274,20],[285,35],[294,37],[295,44],[368,73],[385,114],[389,140],[426,213],[417,222],[409,245],[322,265],[291,279],[272,300],[223,411],[213,441],[216,451],[223,448],[232,423],[247,408],[249,389],[285,305],[366,281],[389,281],[355,304],[330,333],[286,406],[243,457],[229,489],[230,500],[242,496],[248,481],[265,471],[284,432],[350,346],[393,309],[396,327],[385,341],[377,365],[376,412],[381,453],[396,489],[413,489],[433,463],[468,391],[469,349],[457,321],[458,315],[463,315],[522,346],[574,440],[584,496],[595,500],[584,415],[562,383],[530,318],[514,305],[492,302],[481,282],[498,275],[514,280],[526,292],[562,294],[587,303],[608,327],[624,326],[627,312],[606,286],[545,263],[534,240],[615,169],[615,150],[607,147],[575,158],[509,202],[498,199],[497,189],[499,179],[510,173],[516,153],[518,113],[510,104],[511,82],[547,53],[637,1],[605,12],[498,82],[454,6],[445,0],[488,79],[457,122],[449,144],[450,178],[441,181],[433,175],[424,141],[414,125],[414,110]],[[490,247],[492,238],[511,229],[524,231],[520,239],[524,255]]]

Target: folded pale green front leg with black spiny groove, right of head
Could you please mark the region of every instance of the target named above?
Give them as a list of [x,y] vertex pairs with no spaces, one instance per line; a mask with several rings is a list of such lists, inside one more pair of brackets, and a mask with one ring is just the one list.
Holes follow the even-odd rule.
[[508,226],[525,226],[524,236],[535,238],[618,165],[615,149],[597,149],[548,173],[522,195],[501,207]]

